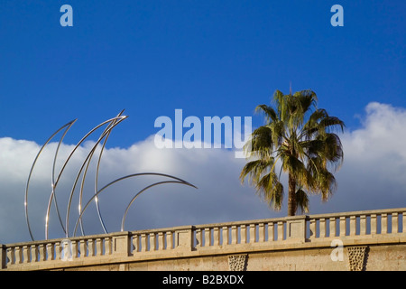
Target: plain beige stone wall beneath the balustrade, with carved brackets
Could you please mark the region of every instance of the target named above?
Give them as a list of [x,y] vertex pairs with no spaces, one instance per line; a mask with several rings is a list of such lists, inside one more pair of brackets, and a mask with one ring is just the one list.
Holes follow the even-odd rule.
[[[406,244],[363,246],[351,262],[350,248],[343,260],[333,261],[332,248],[293,249],[237,255],[194,256],[122,264],[66,267],[64,270],[106,271],[405,271]],[[238,264],[235,265],[235,259]],[[232,261],[233,260],[233,261]],[[360,265],[360,266],[358,266]]]

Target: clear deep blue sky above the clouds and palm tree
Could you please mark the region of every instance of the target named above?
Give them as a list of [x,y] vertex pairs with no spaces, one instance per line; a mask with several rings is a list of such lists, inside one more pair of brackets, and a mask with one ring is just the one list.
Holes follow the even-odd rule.
[[[370,101],[406,106],[403,1],[2,1],[0,134],[43,142],[77,118],[82,135],[125,108],[113,144],[156,117],[253,116],[275,89],[314,89],[359,126]],[[60,25],[60,6],[73,27]],[[260,117],[254,120],[260,121]]]

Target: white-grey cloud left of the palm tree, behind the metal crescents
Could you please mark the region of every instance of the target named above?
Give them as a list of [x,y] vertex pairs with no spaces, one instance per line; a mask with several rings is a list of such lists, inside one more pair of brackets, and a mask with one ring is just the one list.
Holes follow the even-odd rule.
[[[78,148],[62,174],[56,190],[63,222],[67,212],[69,194],[73,182],[85,160],[92,143]],[[44,219],[51,194],[51,164],[57,144],[49,144],[36,164],[28,194],[30,225],[35,239],[44,238]],[[5,184],[0,192],[0,242],[28,240],[23,200],[25,183],[32,161],[40,145],[29,141],[0,139],[0,180]],[[72,150],[72,145],[62,144],[56,178],[63,162]],[[82,206],[93,196],[96,153],[87,173]],[[40,161],[41,160],[41,161]],[[13,162],[13,165],[11,163]],[[153,136],[129,148],[110,148],[103,153],[100,164],[98,189],[117,178],[139,172],[159,172],[179,177],[196,185],[198,189],[181,184],[162,184],[143,192],[134,201],[125,222],[126,230],[140,228],[162,228],[226,220],[268,218],[274,215],[253,196],[252,188],[240,185],[239,171],[244,160],[235,159],[234,152],[220,149],[159,149],[153,143]],[[78,190],[74,191],[69,214],[69,234],[78,218]],[[117,182],[100,193],[100,208],[108,231],[120,230],[125,207],[134,195],[152,182],[166,181],[159,176],[139,176]],[[97,211],[89,206],[85,217],[86,233],[101,233]],[[54,206],[51,207],[50,238],[63,237]]]

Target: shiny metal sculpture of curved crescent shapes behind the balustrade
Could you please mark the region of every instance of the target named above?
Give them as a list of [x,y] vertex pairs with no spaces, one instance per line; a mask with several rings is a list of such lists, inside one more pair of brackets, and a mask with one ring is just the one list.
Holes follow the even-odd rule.
[[[47,206],[47,210],[46,210],[46,216],[45,216],[45,239],[48,239],[49,236],[49,219],[50,219],[50,211],[51,211],[51,204],[52,202],[55,204],[55,210],[56,213],[58,215],[58,219],[60,220],[60,227],[62,228],[65,237],[69,238],[69,217],[70,217],[70,208],[72,205],[72,200],[73,200],[73,195],[74,195],[74,191],[76,191],[76,188],[78,186],[78,182],[80,179],[80,175],[82,174],[82,179],[80,182],[80,190],[79,190],[79,195],[78,195],[78,219],[76,221],[75,224],[75,228],[73,231],[73,236],[76,236],[76,232],[78,229],[78,226],[80,226],[80,230],[82,235],[85,235],[84,233],[84,226],[83,226],[83,222],[82,222],[82,217],[83,214],[85,212],[85,210],[88,208],[89,204],[91,202],[95,202],[96,203],[96,208],[97,208],[97,216],[98,219],[100,221],[100,224],[103,228],[103,230],[105,231],[105,233],[107,233],[107,229],[106,229],[106,225],[104,222],[104,219],[102,218],[102,214],[99,208],[99,200],[98,200],[98,195],[102,192],[105,191],[108,187],[110,187],[111,185],[115,184],[116,182],[120,182],[122,180],[128,179],[128,178],[133,178],[133,177],[137,177],[137,176],[143,176],[143,175],[154,175],[154,176],[159,176],[159,177],[165,177],[167,179],[170,180],[166,180],[166,181],[161,181],[161,182],[153,182],[152,184],[146,186],[143,188],[143,190],[138,191],[133,199],[128,203],[128,205],[125,208],[125,213],[123,215],[122,218],[122,222],[121,222],[121,231],[124,231],[125,228],[125,218],[127,215],[128,210],[130,209],[131,205],[133,204],[134,200],[144,191],[147,191],[148,189],[154,187],[154,186],[158,186],[161,184],[165,184],[165,183],[180,183],[183,185],[188,185],[190,187],[193,188],[197,188],[196,186],[194,186],[193,184],[186,182],[184,180],[181,180],[180,178],[174,177],[170,174],[165,174],[165,173],[158,173],[158,172],[140,172],[140,173],[134,173],[134,174],[130,174],[130,175],[126,175],[124,177],[118,178],[113,182],[109,182],[108,184],[106,184],[103,188],[101,188],[100,190],[98,189],[98,172],[99,172],[99,168],[100,168],[100,160],[102,157],[102,154],[104,152],[104,149],[106,147],[106,142],[107,139],[109,137],[109,135],[111,134],[111,131],[113,128],[115,128],[115,126],[117,126],[118,124],[120,124],[123,120],[125,120],[125,118],[127,118],[126,116],[122,116],[123,115],[123,111],[121,111],[116,117],[110,118],[104,122],[102,122],[101,124],[99,124],[98,126],[95,126],[93,129],[91,129],[88,134],[86,134],[85,136],[82,137],[82,139],[78,142],[78,144],[76,144],[74,146],[74,148],[72,149],[72,151],[70,152],[68,158],[66,159],[66,161],[63,163],[60,172],[58,174],[58,176],[55,178],[55,166],[56,166],[56,162],[57,162],[57,158],[58,158],[58,154],[60,151],[60,144],[62,144],[63,139],[65,138],[65,135],[67,135],[69,129],[71,126],[73,126],[73,124],[77,121],[77,119],[74,119],[72,121],[70,121],[69,123],[67,123],[64,126],[61,126],[55,133],[53,133],[48,140],[45,142],[45,144],[42,145],[40,151],[38,152],[38,154],[36,155],[33,163],[32,163],[32,167],[30,170],[30,173],[28,175],[28,179],[27,179],[27,183],[26,183],[26,187],[25,187],[25,198],[24,198],[24,209],[25,209],[25,219],[27,222],[27,227],[28,227],[28,231],[30,233],[30,236],[32,238],[32,241],[34,240],[33,235],[32,235],[32,228],[30,226],[30,218],[29,218],[29,214],[28,214],[28,192],[29,192],[29,188],[30,188],[30,182],[32,179],[32,172],[33,169],[35,167],[35,164],[37,163],[40,155],[42,154],[45,146],[47,144],[49,144],[51,142],[51,140],[55,137],[55,135],[58,135],[60,132],[63,132],[61,137],[60,137],[60,141],[57,145],[54,157],[53,157],[53,163],[52,163],[52,170],[51,170],[51,194],[50,194],[50,199],[48,201],[48,206]],[[88,139],[89,135],[94,134],[98,128],[102,127],[102,126],[106,126],[106,128],[104,129],[103,133],[98,137],[97,142],[93,145],[93,147],[91,148],[90,152],[88,153],[86,159],[83,161],[83,163],[80,166],[80,169],[76,175],[76,178],[73,182],[73,186],[72,186],[72,190],[69,193],[69,201],[68,201],[68,206],[67,206],[67,212],[66,212],[66,217],[65,217],[65,224],[62,221],[62,218],[60,216],[60,208],[58,205],[58,200],[57,200],[57,194],[56,194],[56,189],[58,187],[58,184],[60,182],[60,178],[62,176],[62,173],[64,172],[66,166],[69,163],[69,160],[71,159],[71,157],[73,156],[73,154],[78,150],[78,147],[83,144],[83,142]],[[85,204],[85,206],[82,208],[82,200],[83,200],[83,192],[84,192],[84,184],[85,184],[85,179],[87,177],[87,173],[88,173],[88,168],[89,168],[89,164],[90,161],[92,160],[97,147],[99,146],[99,144],[101,144],[101,148],[100,148],[100,152],[98,154],[98,159],[97,159],[97,167],[96,167],[96,174],[95,174],[95,188],[94,188],[94,195],[90,198],[90,200],[88,200],[88,202]]]

